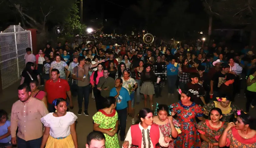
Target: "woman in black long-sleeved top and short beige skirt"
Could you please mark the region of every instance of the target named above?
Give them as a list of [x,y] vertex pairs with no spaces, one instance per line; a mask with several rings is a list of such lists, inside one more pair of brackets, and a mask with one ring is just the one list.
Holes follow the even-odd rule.
[[147,97],[149,96],[150,109],[153,110],[153,95],[154,91],[154,82],[156,82],[156,76],[150,66],[146,64],[144,70],[141,73],[141,94],[144,95],[144,105],[147,107]]

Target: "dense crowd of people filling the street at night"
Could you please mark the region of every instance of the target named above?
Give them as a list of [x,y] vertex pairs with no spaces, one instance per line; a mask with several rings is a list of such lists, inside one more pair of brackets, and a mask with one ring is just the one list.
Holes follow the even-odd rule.
[[[256,120],[248,114],[256,105],[256,57],[249,46],[235,51],[204,41],[76,36],[72,44],[47,44],[36,55],[27,48],[24,59],[10,121],[0,110],[0,146],[77,148],[77,115],[89,116],[94,99],[87,148],[119,148],[118,133],[123,148],[256,147]],[[154,104],[175,92],[178,102]],[[75,115],[67,110],[76,97]],[[245,112],[234,104],[243,97]],[[145,108],[137,114],[141,99]],[[126,133],[127,116],[132,125]]]

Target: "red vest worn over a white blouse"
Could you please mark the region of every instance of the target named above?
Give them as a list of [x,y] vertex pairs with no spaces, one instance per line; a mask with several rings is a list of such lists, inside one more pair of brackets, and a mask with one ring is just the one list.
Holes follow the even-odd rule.
[[[147,134],[147,133],[145,132],[145,134]],[[131,126],[131,136],[132,136],[132,145],[137,145],[137,146],[139,146],[139,148],[141,148],[142,132],[141,132],[141,129],[139,128],[138,124]],[[159,138],[160,138],[158,125],[152,124],[150,131],[149,131],[149,136],[152,141],[153,147],[155,148],[156,144],[158,143]]]

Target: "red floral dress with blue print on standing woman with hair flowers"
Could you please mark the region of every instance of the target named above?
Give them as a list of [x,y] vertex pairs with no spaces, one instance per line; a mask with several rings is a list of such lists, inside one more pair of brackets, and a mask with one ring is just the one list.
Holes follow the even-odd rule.
[[171,105],[172,112],[177,114],[177,120],[181,123],[182,133],[174,140],[175,148],[196,148],[201,146],[200,135],[196,129],[196,117],[203,116],[203,108],[192,103],[190,106],[185,106],[181,101]]

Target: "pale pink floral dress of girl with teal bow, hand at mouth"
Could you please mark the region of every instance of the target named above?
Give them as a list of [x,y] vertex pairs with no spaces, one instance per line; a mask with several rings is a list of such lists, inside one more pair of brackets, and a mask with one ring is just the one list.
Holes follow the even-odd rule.
[[[178,131],[178,133],[181,133],[181,131],[180,131],[180,124],[178,123],[178,121],[173,119],[173,124],[174,124],[176,130]],[[169,122],[164,124],[164,125],[159,125],[159,128],[160,128],[163,136],[171,136],[171,125],[170,125]],[[157,146],[157,148],[174,148],[173,140],[169,142],[169,146],[168,147],[161,147],[159,145],[159,146]]]

